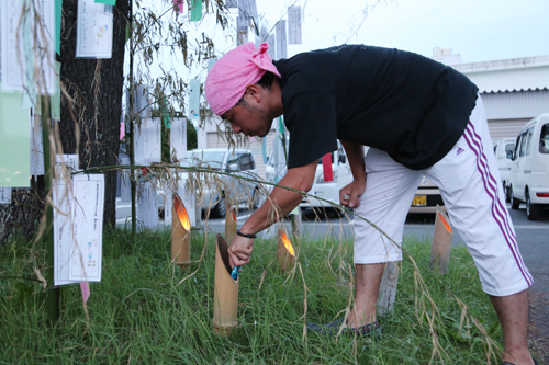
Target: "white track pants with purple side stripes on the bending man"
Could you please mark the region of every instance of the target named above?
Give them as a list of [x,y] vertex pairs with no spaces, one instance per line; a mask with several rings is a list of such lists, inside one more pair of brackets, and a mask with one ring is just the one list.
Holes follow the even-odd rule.
[[402,260],[400,244],[404,221],[425,175],[440,189],[452,228],[474,259],[482,289],[493,296],[507,296],[533,284],[504,201],[480,96],[463,136],[433,167],[422,171],[410,170],[388,153],[372,148],[365,162],[366,192],[356,214],[381,228],[399,246],[392,244],[372,226],[356,217],[356,264]]

